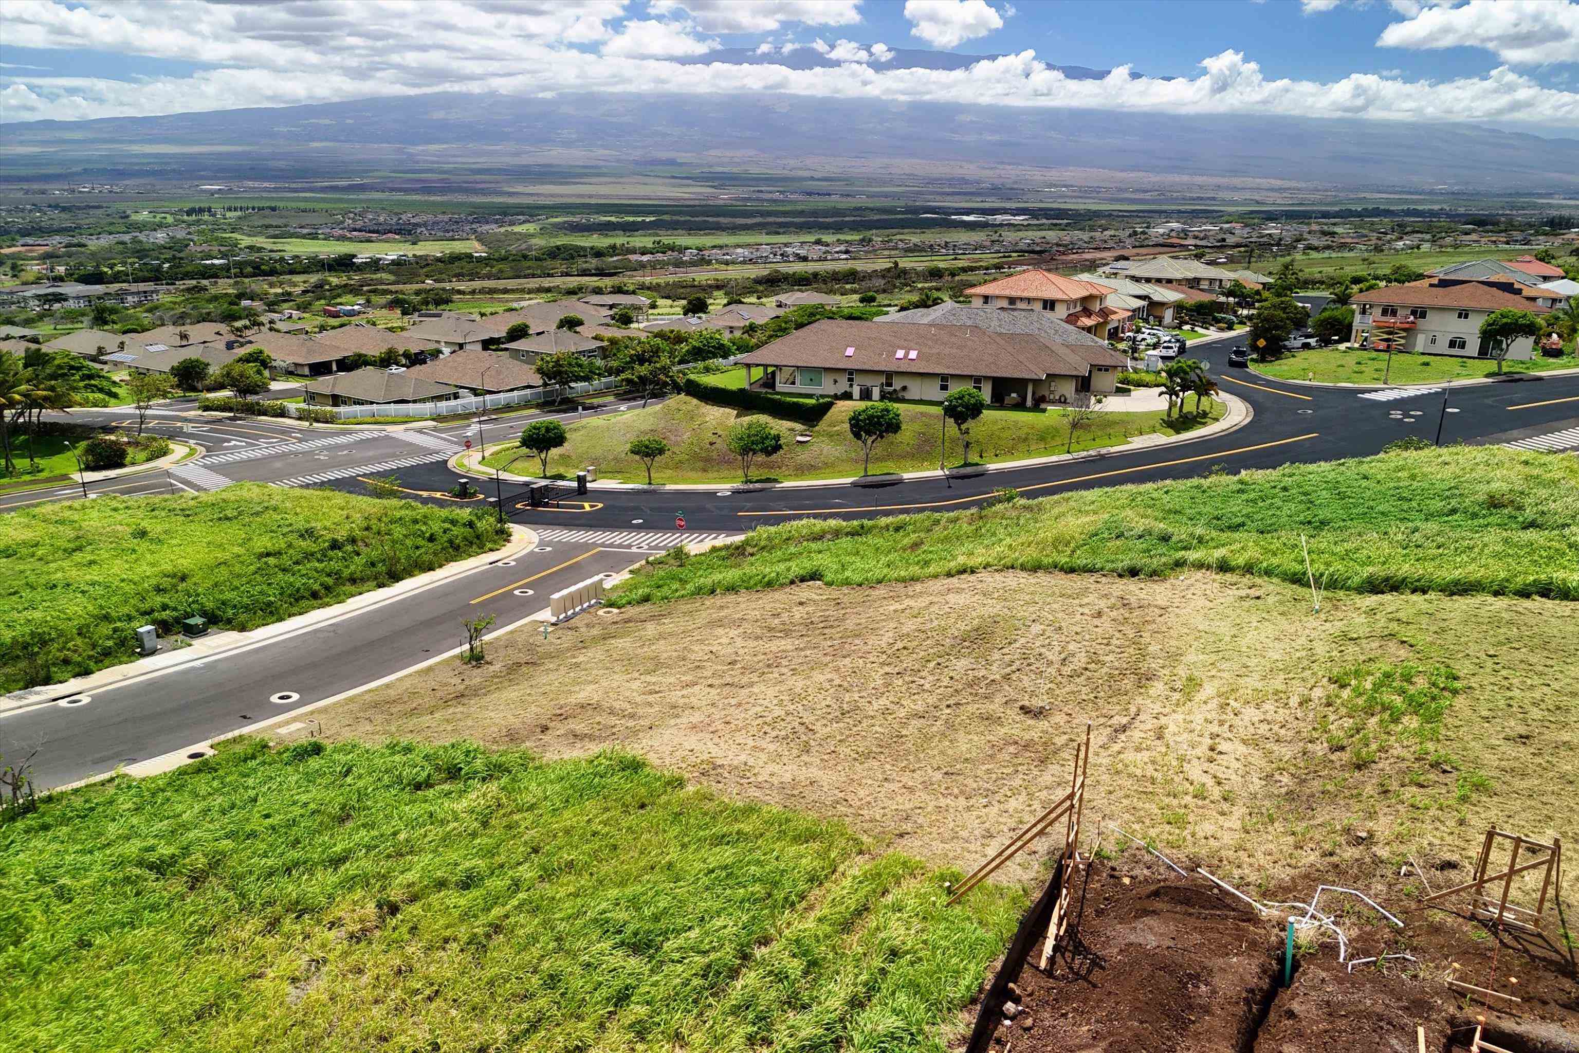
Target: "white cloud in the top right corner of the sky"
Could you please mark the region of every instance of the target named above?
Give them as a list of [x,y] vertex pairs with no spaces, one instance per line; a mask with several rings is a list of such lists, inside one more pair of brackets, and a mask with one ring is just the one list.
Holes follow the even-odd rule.
[[1579,62],[1579,3],[1470,0],[1462,6],[1427,6],[1382,30],[1377,46],[1484,47],[1514,66]]

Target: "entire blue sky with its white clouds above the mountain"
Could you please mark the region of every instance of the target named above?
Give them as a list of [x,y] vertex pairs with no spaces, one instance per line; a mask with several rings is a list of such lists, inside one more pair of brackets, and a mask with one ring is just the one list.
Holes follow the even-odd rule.
[[[1576,0],[6,0],[0,41],[5,122],[657,87],[1579,137]],[[728,47],[764,57],[709,62]],[[906,69],[895,49],[1007,58]]]

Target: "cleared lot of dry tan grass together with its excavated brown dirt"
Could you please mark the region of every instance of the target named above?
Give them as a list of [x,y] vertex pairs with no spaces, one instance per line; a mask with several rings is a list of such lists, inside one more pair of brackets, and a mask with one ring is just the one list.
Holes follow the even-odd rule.
[[[1467,895],[1424,897],[1468,879],[1491,827],[1571,834],[1576,698],[1579,613],[1557,601],[1330,592],[1314,613],[1307,589],[1233,575],[990,571],[587,614],[317,717],[330,739],[619,747],[962,871],[1069,789],[1091,721],[1085,958],[1042,972],[1037,946],[1031,1028],[1003,1021],[992,1048],[1415,1053],[1416,1026],[1434,1051],[1470,1048],[1484,1017],[1486,1042],[1517,1053],[1574,1048],[1521,1039],[1530,1021],[1579,1034],[1573,867],[1538,938],[1470,920]],[[1039,887],[1056,841],[992,881]],[[1404,927],[1323,894],[1345,958],[1301,930],[1285,990],[1282,916],[1197,865],[1260,903],[1363,890]],[[1530,908],[1527,879],[1510,901]],[[1348,971],[1380,954],[1413,960]]]

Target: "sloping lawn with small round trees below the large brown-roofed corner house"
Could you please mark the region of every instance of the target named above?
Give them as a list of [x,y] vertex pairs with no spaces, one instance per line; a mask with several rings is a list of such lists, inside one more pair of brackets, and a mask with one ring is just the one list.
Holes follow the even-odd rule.
[[[726,384],[728,376],[704,379],[722,379]],[[758,458],[752,464],[752,478],[766,482],[859,475],[861,444],[851,437],[848,423],[850,414],[859,406],[856,401],[837,401],[816,425],[767,417],[785,434],[785,448],[777,456]],[[1225,410],[1222,403],[1208,401],[1208,406],[1213,418]],[[944,423],[936,406],[902,403],[898,409],[903,429],[876,444],[872,452],[873,474],[936,470],[940,440],[946,445],[947,464],[960,464],[963,447],[958,431]],[[671,453],[658,459],[652,474],[655,483],[737,483],[741,461],[725,445],[725,434],[737,420],[755,415],[761,414],[679,395],[647,409],[584,420],[565,428],[570,442],[548,458],[548,470],[551,475],[568,475],[595,464],[600,478],[644,483],[646,469],[627,448],[632,439],[658,436],[669,444]],[[1123,445],[1129,436],[1148,433],[1178,434],[1205,420],[1205,406],[1200,420],[1180,422],[1164,422],[1161,410],[1101,412],[1075,436],[1074,450]],[[796,434],[808,434],[810,442],[796,442]],[[990,409],[971,425],[971,463],[990,464],[1063,453],[1067,436],[1069,425],[1061,410]],[[483,461],[486,467],[519,475],[535,475],[540,470],[535,455],[513,442],[489,450]]]

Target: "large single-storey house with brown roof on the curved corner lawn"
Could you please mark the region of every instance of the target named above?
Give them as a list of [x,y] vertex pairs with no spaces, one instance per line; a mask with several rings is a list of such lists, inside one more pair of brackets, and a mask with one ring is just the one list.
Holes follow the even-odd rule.
[[[747,387],[786,395],[848,395],[941,403],[974,387],[995,406],[1069,403],[1078,392],[1110,393],[1124,357],[1105,346],[1058,344],[1033,333],[973,325],[826,319],[739,360]],[[761,369],[753,377],[753,371]]]

